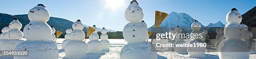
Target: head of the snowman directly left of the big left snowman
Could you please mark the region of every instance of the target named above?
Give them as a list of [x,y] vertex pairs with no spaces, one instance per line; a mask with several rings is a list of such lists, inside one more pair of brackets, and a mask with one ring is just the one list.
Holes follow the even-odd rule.
[[12,22],[9,24],[10,29],[18,29],[20,30],[22,27],[22,24],[19,22],[17,18],[14,18]]

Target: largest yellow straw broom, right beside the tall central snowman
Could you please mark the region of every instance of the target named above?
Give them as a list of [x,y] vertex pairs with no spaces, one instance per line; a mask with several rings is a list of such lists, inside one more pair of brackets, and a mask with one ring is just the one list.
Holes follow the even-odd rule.
[[155,10],[155,31],[154,31],[154,35],[153,38],[151,40],[151,44],[153,42],[154,36],[156,34],[157,29],[160,27],[161,23],[165,20],[165,18],[168,16],[167,13]]

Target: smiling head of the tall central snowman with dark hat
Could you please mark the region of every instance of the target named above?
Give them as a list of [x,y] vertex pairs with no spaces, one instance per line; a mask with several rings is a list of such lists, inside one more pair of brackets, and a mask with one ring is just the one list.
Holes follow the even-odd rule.
[[128,22],[140,22],[143,19],[143,12],[136,0],[131,1],[125,10],[125,19]]

